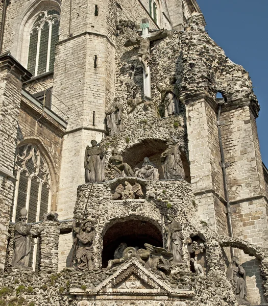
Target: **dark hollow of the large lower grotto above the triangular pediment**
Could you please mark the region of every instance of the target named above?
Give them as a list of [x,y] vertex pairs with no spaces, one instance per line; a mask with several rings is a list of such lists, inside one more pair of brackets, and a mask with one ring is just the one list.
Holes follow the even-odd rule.
[[107,267],[110,259],[114,259],[114,252],[120,243],[137,248],[144,248],[144,243],[163,247],[162,233],[153,223],[133,219],[119,221],[110,226],[103,237],[103,268]]

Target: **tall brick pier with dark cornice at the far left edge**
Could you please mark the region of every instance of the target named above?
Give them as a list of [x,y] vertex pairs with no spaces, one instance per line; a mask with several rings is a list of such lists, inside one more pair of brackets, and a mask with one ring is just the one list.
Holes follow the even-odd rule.
[[0,55],[0,268],[4,268],[10,211],[13,205],[13,175],[17,145],[18,114],[22,82],[32,74],[10,54]]

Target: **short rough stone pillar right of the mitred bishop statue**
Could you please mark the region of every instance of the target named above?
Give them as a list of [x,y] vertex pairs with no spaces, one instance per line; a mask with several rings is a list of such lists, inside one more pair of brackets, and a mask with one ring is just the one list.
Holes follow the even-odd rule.
[[44,231],[40,235],[40,271],[58,271],[59,262],[59,222],[44,221]]

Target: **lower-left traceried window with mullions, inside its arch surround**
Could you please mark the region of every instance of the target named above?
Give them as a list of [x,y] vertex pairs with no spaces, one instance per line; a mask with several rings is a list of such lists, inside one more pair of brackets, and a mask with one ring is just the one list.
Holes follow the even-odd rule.
[[38,222],[51,208],[51,176],[38,147],[24,144],[17,148],[17,177],[12,221],[19,221],[19,212],[28,210],[27,222]]

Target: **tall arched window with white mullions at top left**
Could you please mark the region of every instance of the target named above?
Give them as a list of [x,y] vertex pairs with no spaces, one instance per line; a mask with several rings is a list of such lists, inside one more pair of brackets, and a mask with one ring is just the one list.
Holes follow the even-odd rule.
[[59,24],[60,14],[55,9],[44,10],[35,19],[30,33],[27,64],[33,75],[53,70]]

